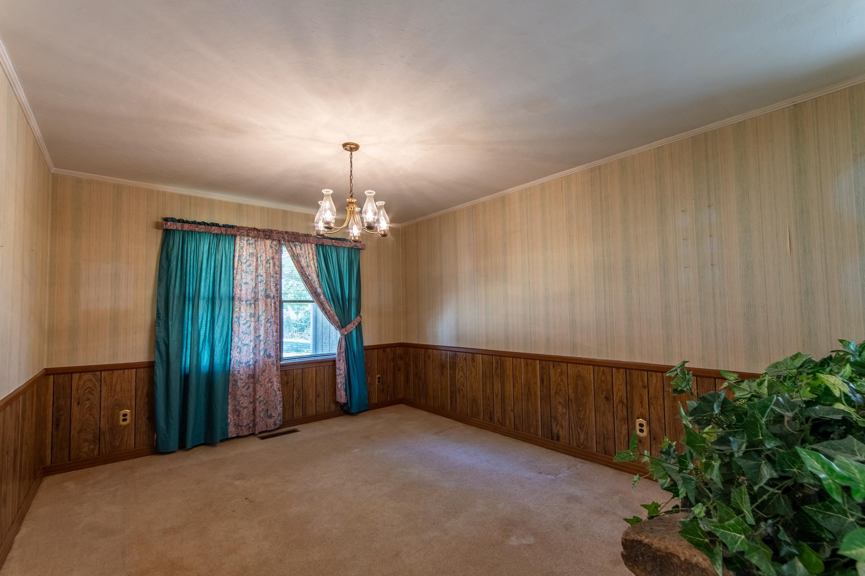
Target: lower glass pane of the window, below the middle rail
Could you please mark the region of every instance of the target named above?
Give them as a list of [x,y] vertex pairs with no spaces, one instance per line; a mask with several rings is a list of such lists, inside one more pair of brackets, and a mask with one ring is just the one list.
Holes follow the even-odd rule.
[[297,358],[336,354],[339,332],[314,302],[284,302],[282,305],[282,356]]

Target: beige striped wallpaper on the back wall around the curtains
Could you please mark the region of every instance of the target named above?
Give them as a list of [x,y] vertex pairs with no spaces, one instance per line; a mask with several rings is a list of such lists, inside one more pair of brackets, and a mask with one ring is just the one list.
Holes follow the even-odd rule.
[[[153,358],[157,263],[165,216],[312,231],[311,214],[54,174],[48,366]],[[364,240],[364,341],[398,342],[400,231]]]

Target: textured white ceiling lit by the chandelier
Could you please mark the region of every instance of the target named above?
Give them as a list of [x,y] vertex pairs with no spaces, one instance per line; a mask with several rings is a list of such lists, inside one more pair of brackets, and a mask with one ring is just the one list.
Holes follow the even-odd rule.
[[865,73],[865,3],[0,0],[57,168],[394,222]]

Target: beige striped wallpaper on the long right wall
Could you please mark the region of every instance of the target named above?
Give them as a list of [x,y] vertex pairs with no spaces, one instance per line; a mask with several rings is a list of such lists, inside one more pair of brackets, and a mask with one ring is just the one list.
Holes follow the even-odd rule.
[[401,232],[407,342],[734,370],[822,355],[865,337],[865,85]]

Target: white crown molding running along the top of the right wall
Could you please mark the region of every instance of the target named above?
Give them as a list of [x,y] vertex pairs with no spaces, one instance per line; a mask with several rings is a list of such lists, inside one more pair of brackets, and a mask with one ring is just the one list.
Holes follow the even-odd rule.
[[520,190],[524,190],[529,187],[537,186],[538,184],[543,184],[544,182],[548,182],[550,180],[555,180],[556,178],[561,178],[562,176],[567,176],[569,174],[576,174],[577,172],[582,172],[583,170],[588,170],[589,168],[594,168],[595,166],[600,166],[601,164],[606,164],[606,162],[619,160],[620,158],[625,158],[626,156],[631,156],[635,154],[639,154],[640,152],[645,152],[646,150],[659,148],[664,146],[665,144],[670,144],[671,142],[677,142],[679,140],[684,140],[685,138],[689,138],[691,136],[697,136],[698,134],[703,134],[705,132],[710,132],[711,130],[717,130],[719,128],[723,128],[724,126],[728,126],[730,124],[734,124],[737,122],[741,122],[742,120],[747,120],[749,118],[762,116],[763,114],[768,114],[769,112],[779,111],[782,108],[789,108],[792,105],[800,104],[807,100],[812,100],[814,98],[819,98],[821,96],[825,96],[826,94],[831,94],[832,92],[838,92],[839,90],[843,90],[844,88],[849,88],[850,86],[854,86],[857,84],[862,84],[865,82],[865,74],[861,76],[855,76],[854,78],[844,80],[843,82],[838,82],[837,84],[832,84],[828,86],[824,86],[823,88],[818,88],[817,90],[811,92],[805,92],[799,96],[794,96],[793,98],[787,98],[786,100],[782,100],[776,104],[770,104],[764,108],[758,108],[757,110],[753,110],[750,112],[745,112],[743,114],[739,114],[738,116],[729,117],[726,120],[719,120],[718,122],[714,122],[711,124],[706,124],[705,126],[701,126],[700,128],[695,128],[694,130],[688,130],[687,132],[682,132],[681,134],[676,134],[676,136],[668,136],[661,140],[657,140],[655,142],[650,142],[649,144],[644,144],[638,148],[625,150],[625,152],[619,152],[618,154],[614,154],[612,156],[607,156],[606,158],[601,158],[600,160],[595,160],[588,162],[587,164],[582,164],[576,168],[569,168],[567,170],[563,170],[562,172],[558,172],[556,174],[550,174],[549,176],[544,176],[543,178],[539,178],[538,180],[532,180],[531,182],[527,182],[526,184],[521,184],[520,186],[515,186],[512,188],[508,188],[507,190],[503,190],[502,192],[497,192],[490,194],[489,196],[484,196],[483,198],[478,198],[471,200],[469,202],[465,202],[464,204],[460,204],[458,206],[452,206],[451,208],[445,208],[445,210],[439,210],[439,212],[432,212],[432,214],[427,214],[426,216],[421,216],[420,218],[414,218],[413,220],[409,220],[407,222],[403,222],[402,226],[407,226],[414,224],[416,222],[420,222],[421,220],[426,220],[429,218],[435,218],[436,216],[440,216],[442,214],[446,214],[447,212],[454,212],[460,210],[462,208],[468,206],[474,206],[476,204],[480,204],[481,202],[486,202],[487,200],[491,200],[494,198],[498,198],[499,196],[504,196],[506,194],[519,192]]

